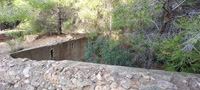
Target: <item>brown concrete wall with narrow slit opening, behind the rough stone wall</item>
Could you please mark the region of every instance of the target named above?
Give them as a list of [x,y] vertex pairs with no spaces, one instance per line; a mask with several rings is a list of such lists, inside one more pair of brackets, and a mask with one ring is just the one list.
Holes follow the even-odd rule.
[[12,53],[13,58],[32,60],[80,60],[84,54],[87,38],[80,38],[52,46],[44,46]]

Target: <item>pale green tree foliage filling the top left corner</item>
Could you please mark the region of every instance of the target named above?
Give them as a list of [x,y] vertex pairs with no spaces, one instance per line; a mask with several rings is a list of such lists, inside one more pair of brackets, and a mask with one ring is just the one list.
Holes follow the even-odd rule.
[[21,0],[2,0],[0,2],[0,24],[10,27],[32,18],[28,4]]

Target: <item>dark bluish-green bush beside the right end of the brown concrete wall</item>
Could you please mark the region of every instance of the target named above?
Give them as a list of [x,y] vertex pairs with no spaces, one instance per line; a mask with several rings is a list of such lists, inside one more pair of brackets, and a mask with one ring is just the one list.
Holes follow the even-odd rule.
[[132,57],[130,51],[120,49],[119,44],[114,40],[101,38],[88,42],[84,59],[94,63],[135,66]]

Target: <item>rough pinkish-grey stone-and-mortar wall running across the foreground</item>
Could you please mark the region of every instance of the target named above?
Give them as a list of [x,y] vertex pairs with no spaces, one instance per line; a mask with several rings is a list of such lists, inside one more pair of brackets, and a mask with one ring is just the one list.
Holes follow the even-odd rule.
[[[199,90],[200,75],[0,54],[0,90]],[[5,57],[6,56],[6,57]]]

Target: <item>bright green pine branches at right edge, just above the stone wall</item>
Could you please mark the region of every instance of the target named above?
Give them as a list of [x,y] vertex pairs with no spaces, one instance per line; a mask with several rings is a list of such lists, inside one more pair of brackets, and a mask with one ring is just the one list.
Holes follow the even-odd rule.
[[157,60],[171,71],[200,73],[200,16],[177,21],[183,31],[159,44]]

